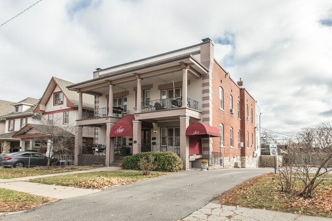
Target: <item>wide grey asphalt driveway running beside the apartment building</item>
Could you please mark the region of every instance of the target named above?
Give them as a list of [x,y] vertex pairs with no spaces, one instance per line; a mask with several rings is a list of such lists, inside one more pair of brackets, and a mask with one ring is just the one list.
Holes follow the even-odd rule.
[[178,220],[271,169],[183,171],[73,197],[4,220]]

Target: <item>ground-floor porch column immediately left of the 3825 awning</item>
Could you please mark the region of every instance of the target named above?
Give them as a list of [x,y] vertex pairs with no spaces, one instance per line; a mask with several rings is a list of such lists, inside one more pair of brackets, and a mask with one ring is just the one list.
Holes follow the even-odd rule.
[[183,170],[189,169],[189,136],[185,130],[189,126],[189,117],[180,116],[180,157],[183,161]]

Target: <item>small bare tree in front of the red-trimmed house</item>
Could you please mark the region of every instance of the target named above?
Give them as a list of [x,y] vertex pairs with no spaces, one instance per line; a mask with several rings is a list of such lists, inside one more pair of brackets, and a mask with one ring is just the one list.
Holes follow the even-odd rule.
[[[55,154],[70,151],[75,142],[74,127],[69,125],[57,126],[61,125],[59,122],[62,122],[62,119],[55,119],[52,124],[42,119],[40,125],[35,125],[36,129],[41,132],[41,135],[36,137],[36,141],[40,142],[41,147],[49,151],[48,169],[51,159],[55,158]],[[53,162],[56,164],[55,159]]]

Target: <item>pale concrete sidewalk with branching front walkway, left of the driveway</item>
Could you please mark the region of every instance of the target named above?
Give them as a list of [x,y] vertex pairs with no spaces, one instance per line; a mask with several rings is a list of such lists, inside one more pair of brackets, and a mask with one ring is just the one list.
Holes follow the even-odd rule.
[[83,195],[91,194],[92,192],[102,191],[100,189],[83,189],[77,187],[70,186],[58,186],[58,185],[46,185],[40,183],[31,183],[26,182],[30,179],[36,179],[41,177],[52,177],[52,176],[61,176],[61,175],[69,175],[69,174],[81,174],[81,173],[92,173],[99,171],[117,171],[121,170],[117,167],[102,167],[96,168],[88,171],[74,171],[67,173],[59,173],[59,174],[47,174],[40,176],[32,176],[32,177],[21,177],[21,178],[13,178],[13,179],[0,179],[0,188],[12,189],[20,192],[27,192],[28,194],[34,194],[38,196],[51,197],[55,199],[67,199],[72,197],[78,197]]

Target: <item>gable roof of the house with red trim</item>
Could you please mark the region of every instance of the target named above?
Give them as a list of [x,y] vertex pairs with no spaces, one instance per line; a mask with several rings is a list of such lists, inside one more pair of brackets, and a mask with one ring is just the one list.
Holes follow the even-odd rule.
[[[39,104],[46,105],[50,96],[52,96],[56,86],[60,88],[64,96],[67,98],[67,101],[72,103],[74,106],[78,106],[79,103],[79,94],[75,91],[69,91],[66,87],[74,85],[73,82],[66,81],[57,77],[52,77],[48,87],[46,88],[43,96],[41,97]],[[83,94],[83,107],[94,108],[94,96]]]

